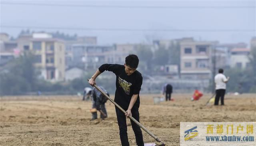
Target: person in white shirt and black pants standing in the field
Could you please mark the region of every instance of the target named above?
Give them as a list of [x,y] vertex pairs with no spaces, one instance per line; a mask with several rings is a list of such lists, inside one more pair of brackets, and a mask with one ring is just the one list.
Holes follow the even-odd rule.
[[219,69],[219,73],[214,77],[215,82],[215,89],[216,89],[216,96],[215,96],[215,102],[214,105],[219,104],[219,99],[221,101],[221,105],[224,105],[224,96],[226,92],[226,83],[229,80],[229,77],[226,78],[226,76],[223,74],[223,69]]

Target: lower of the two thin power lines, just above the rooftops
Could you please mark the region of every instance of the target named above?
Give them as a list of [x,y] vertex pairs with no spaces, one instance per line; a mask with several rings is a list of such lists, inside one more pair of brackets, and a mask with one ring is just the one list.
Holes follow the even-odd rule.
[[133,31],[133,32],[256,32],[256,29],[140,29],[140,28],[72,28],[72,27],[46,27],[46,26],[9,26],[1,28],[22,29],[54,29],[54,30],[94,30],[94,31]]

